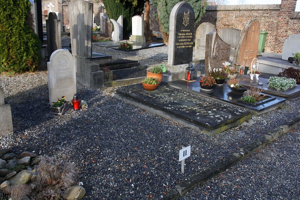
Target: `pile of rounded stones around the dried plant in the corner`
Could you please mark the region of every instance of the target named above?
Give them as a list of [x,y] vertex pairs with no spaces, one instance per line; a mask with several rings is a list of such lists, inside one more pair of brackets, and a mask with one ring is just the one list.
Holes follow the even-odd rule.
[[[36,153],[25,151],[17,156],[11,153],[10,149],[0,149],[0,199],[2,192],[6,191],[8,186],[23,185],[29,191],[32,190],[32,177],[38,173],[38,163],[41,156]],[[82,186],[71,186],[68,190],[66,200],[81,200],[85,195],[85,189]],[[21,200],[30,200],[23,196]]]

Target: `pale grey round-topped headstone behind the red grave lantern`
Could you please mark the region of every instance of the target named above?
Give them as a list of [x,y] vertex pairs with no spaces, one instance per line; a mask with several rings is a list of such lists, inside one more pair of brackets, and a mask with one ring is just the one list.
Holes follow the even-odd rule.
[[64,49],[54,51],[47,62],[49,103],[65,96],[73,98],[76,93],[76,72],[72,54]]

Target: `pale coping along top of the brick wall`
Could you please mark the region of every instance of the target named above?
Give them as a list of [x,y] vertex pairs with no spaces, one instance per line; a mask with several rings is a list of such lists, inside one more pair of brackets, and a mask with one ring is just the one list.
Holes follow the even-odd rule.
[[211,5],[206,11],[234,11],[234,10],[280,10],[280,4],[267,5]]

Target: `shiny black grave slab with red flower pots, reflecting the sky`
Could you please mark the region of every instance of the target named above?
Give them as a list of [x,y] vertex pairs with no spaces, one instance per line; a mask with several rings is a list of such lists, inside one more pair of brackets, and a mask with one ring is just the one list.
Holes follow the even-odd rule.
[[[246,76],[246,75],[245,75]],[[249,80],[250,80],[250,76]],[[253,112],[254,115],[259,115],[265,112],[268,112],[270,110],[276,109],[278,106],[282,105],[286,99],[281,97],[276,97],[270,94],[266,94],[269,96],[269,98],[261,102],[257,105],[248,105],[242,102],[238,102],[238,100],[243,96],[243,94],[235,94],[231,91],[231,89],[227,86],[226,83],[224,83],[223,86],[214,86],[214,89],[212,91],[203,91],[200,90],[200,83],[199,80],[201,77],[195,77],[194,82],[186,82],[184,80],[176,80],[170,82],[170,86],[174,86],[176,88],[182,88],[186,89],[187,91],[199,93],[201,95],[214,98],[226,103],[230,103],[233,105],[240,106],[242,108],[247,108]],[[249,81],[250,83],[250,81]],[[244,84],[243,84],[244,85]],[[263,93],[264,94],[264,93]]]

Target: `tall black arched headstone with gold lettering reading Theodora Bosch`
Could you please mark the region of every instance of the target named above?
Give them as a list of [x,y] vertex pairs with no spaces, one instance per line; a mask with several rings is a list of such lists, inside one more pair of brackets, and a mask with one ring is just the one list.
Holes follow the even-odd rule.
[[[170,14],[168,65],[183,65],[192,62],[195,14],[187,2],[177,3]],[[167,71],[182,72],[186,66],[167,67]]]

